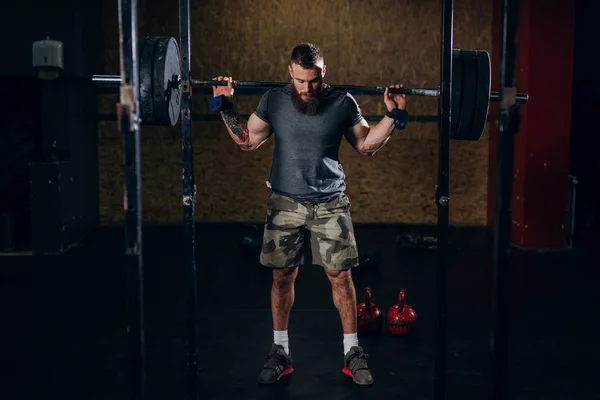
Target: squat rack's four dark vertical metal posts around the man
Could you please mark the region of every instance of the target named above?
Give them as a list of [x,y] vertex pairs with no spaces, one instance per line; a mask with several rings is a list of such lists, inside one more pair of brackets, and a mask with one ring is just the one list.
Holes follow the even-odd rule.
[[[446,381],[446,313],[447,268],[449,228],[449,175],[450,132],[452,101],[452,50],[454,31],[454,2],[442,0],[441,69],[438,97],[439,162],[436,204],[438,208],[436,346],[435,346],[435,398],[445,398]],[[183,162],[183,242],[186,271],[186,307],[188,334],[188,393],[198,399],[198,368],[196,343],[196,250],[194,213],[196,184],[193,170],[192,102],[190,79],[190,4],[179,1],[179,33],[181,50],[181,130]],[[519,105],[516,96],[516,38],[518,3],[502,0],[502,43],[499,69],[498,155],[496,171],[496,209],[494,221],[494,284],[493,329],[491,351],[493,355],[494,400],[506,398],[507,322],[508,322],[508,262],[510,250],[510,199],[512,195],[513,135],[517,132]],[[142,247],[142,203],[140,170],[140,95],[138,67],[137,1],[119,0],[120,39],[120,99],[117,119],[122,134],[123,177],[125,181],[125,266],[127,272],[127,335],[130,355],[130,397],[146,399],[145,331],[144,331],[144,269]]]

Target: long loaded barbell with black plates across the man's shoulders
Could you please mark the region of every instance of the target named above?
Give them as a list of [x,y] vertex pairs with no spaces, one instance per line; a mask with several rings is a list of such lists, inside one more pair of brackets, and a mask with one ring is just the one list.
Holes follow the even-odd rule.
[[[144,125],[175,126],[179,120],[181,98],[181,55],[172,37],[145,37],[138,46],[140,116]],[[454,140],[478,141],[487,122],[490,101],[499,101],[498,92],[490,91],[491,63],[484,50],[454,49],[452,52],[452,125]],[[119,75],[94,75],[94,82],[104,85],[121,83]],[[185,83],[183,83],[185,85]],[[226,85],[223,81],[190,80],[198,92],[212,94],[212,86]],[[289,85],[289,82],[234,81],[239,94],[256,94],[256,89]],[[353,95],[378,95],[384,86],[330,85]],[[184,88],[187,90],[187,88]],[[259,92],[260,93],[260,92]],[[407,96],[439,97],[439,88],[390,88],[390,93]],[[517,93],[515,102],[526,104],[529,96]]]

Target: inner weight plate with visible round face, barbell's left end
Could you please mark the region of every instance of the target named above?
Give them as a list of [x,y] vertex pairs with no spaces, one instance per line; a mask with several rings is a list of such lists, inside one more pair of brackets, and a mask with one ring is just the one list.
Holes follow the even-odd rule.
[[175,126],[181,110],[181,57],[172,37],[158,38],[152,78],[156,121],[158,125]]

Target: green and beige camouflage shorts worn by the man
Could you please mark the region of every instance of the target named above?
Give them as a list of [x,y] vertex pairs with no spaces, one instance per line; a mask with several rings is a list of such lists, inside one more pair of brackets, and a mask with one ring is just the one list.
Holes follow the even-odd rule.
[[286,268],[304,264],[306,233],[312,264],[329,270],[358,265],[358,248],[346,195],[325,203],[298,202],[269,191],[260,263]]

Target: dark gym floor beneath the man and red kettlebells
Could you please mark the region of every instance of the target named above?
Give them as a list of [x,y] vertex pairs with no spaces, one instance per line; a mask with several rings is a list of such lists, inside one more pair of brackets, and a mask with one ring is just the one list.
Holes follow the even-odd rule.
[[[382,310],[400,288],[418,314],[408,337],[360,338],[375,383],[342,374],[342,332],[323,271],[301,267],[290,320],[295,372],[256,379],[272,341],[270,271],[239,251],[240,225],[199,225],[198,363],[201,399],[434,399],[436,252],[401,248],[405,228],[357,225],[361,252],[378,267],[355,270]],[[403,230],[401,230],[403,229]],[[435,233],[432,231],[431,233]],[[425,234],[425,233],[423,233]],[[447,399],[490,396],[492,258],[478,230],[451,232]],[[4,399],[128,399],[123,229],[101,228],[65,255],[0,257]],[[182,230],[144,229],[149,399],[187,399]],[[510,279],[510,399],[599,399],[600,277],[581,252],[515,250]]]

